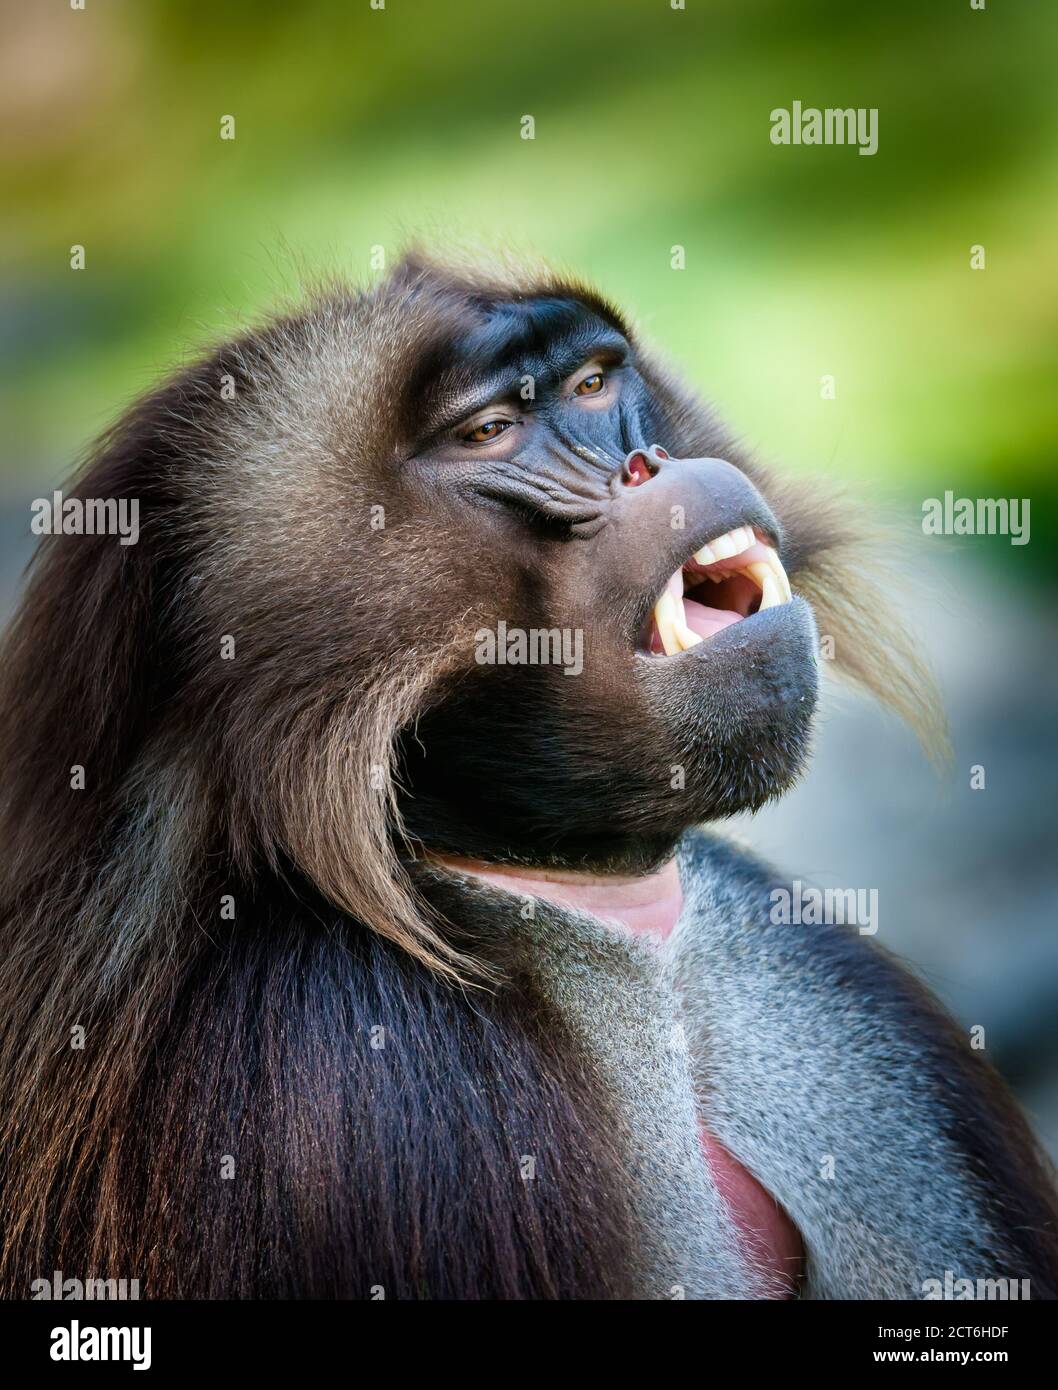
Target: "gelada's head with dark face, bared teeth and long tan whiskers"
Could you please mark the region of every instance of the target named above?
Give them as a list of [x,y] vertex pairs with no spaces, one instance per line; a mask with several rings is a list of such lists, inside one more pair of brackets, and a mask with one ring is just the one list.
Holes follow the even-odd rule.
[[[76,491],[138,498],[139,543],[53,537],[8,655],[56,777],[89,769],[83,833],[164,767],[241,873],[302,873],[431,960],[398,851],[658,863],[798,774],[817,627],[927,708],[848,517],[553,275],[409,257],[327,292],[149,396]],[[70,798],[7,739],[25,867]]]

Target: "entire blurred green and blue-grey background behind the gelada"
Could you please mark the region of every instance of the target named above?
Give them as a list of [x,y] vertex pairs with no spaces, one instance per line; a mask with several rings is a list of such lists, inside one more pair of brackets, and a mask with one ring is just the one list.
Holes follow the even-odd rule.
[[[986,1027],[1058,1155],[1058,6],[0,13],[4,607],[31,499],[131,399],[410,238],[594,278],[763,457],[890,499],[912,532],[945,489],[1032,499],[1026,546],[919,534],[909,616],[951,712],[951,785],[876,709],[829,702],[809,777],[744,828],[805,881],[879,888],[879,940]],[[794,100],[876,107],[877,154],[772,145]]]

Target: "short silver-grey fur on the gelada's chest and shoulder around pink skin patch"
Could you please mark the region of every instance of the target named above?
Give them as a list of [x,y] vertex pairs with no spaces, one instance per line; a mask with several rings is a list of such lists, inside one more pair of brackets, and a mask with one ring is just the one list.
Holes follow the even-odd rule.
[[695,831],[678,863],[685,905],[663,947],[544,902],[524,922],[521,899],[460,884],[471,912],[524,933],[623,1116],[641,1297],[779,1291],[740,1252],[699,1123],[801,1232],[802,1298],[1027,1277],[965,1143],[988,1106],[968,1040],[852,929],[774,924],[779,877],[733,845]]

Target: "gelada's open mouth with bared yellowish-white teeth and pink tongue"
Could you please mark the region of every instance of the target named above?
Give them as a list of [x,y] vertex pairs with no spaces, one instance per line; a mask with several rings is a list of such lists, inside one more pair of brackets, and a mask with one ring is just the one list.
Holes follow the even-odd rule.
[[735,527],[695,550],[665,585],[651,613],[645,651],[676,656],[790,599],[776,548],[754,527]]

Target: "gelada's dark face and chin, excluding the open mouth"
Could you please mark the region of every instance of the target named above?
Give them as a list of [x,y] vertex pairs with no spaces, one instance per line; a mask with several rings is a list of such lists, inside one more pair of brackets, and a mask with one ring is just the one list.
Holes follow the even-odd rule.
[[506,557],[494,621],[581,632],[583,671],[469,666],[402,739],[412,837],[628,872],[783,791],[815,705],[811,612],[794,598],[690,652],[644,651],[655,600],[699,546],[752,525],[781,557],[784,538],[738,468],[672,457],[677,423],[619,325],[573,299],[487,306],[413,389],[405,477],[469,546]]

